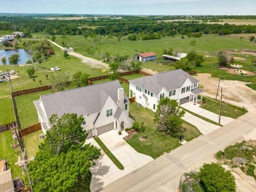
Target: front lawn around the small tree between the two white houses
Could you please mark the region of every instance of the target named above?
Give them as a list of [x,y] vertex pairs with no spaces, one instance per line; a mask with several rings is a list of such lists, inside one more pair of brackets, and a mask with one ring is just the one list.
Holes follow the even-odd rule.
[[[145,133],[137,133],[133,135],[132,138],[127,140],[135,150],[139,153],[149,155],[153,158],[161,156],[163,153],[170,152],[171,150],[179,147],[179,138],[173,138],[170,136],[165,137],[164,132],[159,132],[156,130],[157,124],[154,124],[154,112],[150,109],[138,107],[137,103],[134,102],[130,104],[130,113],[139,123],[144,122],[146,126]],[[185,121],[183,121],[183,126],[186,127],[186,132],[183,134],[186,141],[190,141],[201,133],[197,128]],[[140,140],[142,135],[146,136],[146,140]]]

